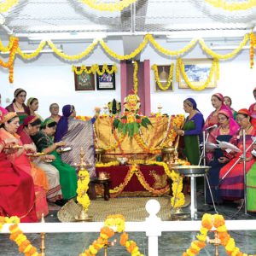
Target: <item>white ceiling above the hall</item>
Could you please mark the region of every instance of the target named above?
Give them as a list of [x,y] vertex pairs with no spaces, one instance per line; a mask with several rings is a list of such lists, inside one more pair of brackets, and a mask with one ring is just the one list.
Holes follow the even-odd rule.
[[214,8],[204,0],[137,0],[121,12],[90,9],[79,0],[20,0],[2,16],[1,38],[13,32],[24,40],[36,36],[54,39],[54,33],[62,33],[72,40],[79,35],[94,38],[102,32],[108,39],[125,40],[124,49],[129,53],[148,32],[166,38],[166,34],[175,32],[233,31],[235,35],[241,32],[241,37],[256,24],[256,8],[229,12]]

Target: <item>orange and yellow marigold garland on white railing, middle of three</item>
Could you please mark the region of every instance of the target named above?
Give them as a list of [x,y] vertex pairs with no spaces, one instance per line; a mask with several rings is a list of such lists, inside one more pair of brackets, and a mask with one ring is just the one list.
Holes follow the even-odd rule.
[[118,233],[123,232],[120,236],[119,243],[126,248],[128,253],[131,253],[132,256],[143,256],[137,247],[137,243],[133,240],[129,240],[129,235],[125,232],[125,218],[120,214],[109,215],[107,217],[101,229],[100,236],[84,253],[79,254],[79,256],[95,256],[102,247],[108,244],[108,239],[114,236],[113,227],[116,228]]

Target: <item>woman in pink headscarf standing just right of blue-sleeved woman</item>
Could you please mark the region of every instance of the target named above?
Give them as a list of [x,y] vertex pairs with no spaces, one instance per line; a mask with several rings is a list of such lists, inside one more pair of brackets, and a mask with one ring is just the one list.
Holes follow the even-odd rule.
[[215,93],[212,95],[211,98],[212,101],[212,107],[215,108],[212,113],[209,114],[207,117],[206,123],[204,125],[204,130],[206,130],[208,127],[212,125],[218,125],[218,111],[219,110],[227,110],[230,114],[233,114],[229,107],[224,105],[224,96],[221,93]]

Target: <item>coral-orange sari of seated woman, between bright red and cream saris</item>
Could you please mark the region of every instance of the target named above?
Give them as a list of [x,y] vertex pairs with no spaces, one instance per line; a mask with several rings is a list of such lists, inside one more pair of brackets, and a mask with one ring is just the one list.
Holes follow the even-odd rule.
[[[8,131],[3,128],[0,129],[0,137],[1,138],[9,138],[15,137],[10,134]],[[15,137],[18,139],[19,144],[22,145],[20,138],[18,136]],[[23,149],[20,149],[23,150]],[[19,150],[19,151],[20,151]],[[48,205],[46,202],[46,192],[49,189],[47,177],[41,169],[33,165],[27,158],[26,152],[23,150],[20,152],[9,154],[8,159],[11,161],[15,169],[21,172],[26,172],[27,174],[32,176],[35,195],[36,195],[36,211],[38,218],[42,217],[42,214],[46,216],[49,213]]]

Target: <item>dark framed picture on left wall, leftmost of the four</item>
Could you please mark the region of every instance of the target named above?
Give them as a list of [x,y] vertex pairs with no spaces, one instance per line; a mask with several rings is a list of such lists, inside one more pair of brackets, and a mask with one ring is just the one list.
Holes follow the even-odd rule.
[[[80,67],[77,67],[79,71]],[[75,90],[95,90],[95,78],[93,73],[74,73]]]

